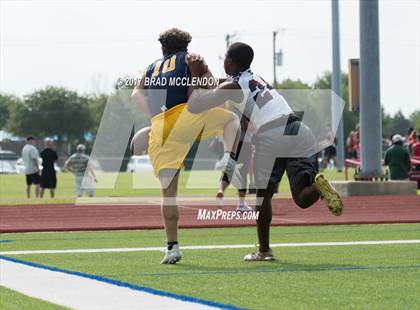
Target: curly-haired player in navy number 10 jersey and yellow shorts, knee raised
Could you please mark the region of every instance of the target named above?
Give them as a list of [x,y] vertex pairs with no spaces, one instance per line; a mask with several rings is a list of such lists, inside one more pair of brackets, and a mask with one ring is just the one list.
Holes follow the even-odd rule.
[[[159,36],[163,56],[148,66],[132,98],[151,120],[148,153],[154,173],[161,183],[161,212],[165,225],[167,249],[162,264],[181,259],[178,245],[177,187],[179,170],[183,166],[190,144],[197,138],[223,136],[225,154],[222,171],[229,180],[240,184],[234,150],[239,136],[239,118],[231,111],[216,107],[200,114],[187,109],[187,101],[197,88],[210,88],[216,83],[191,85],[194,79],[214,79],[203,58],[188,52],[191,35],[177,28]],[[189,81],[177,84],[176,81]],[[146,131],[147,132],[147,131]]]

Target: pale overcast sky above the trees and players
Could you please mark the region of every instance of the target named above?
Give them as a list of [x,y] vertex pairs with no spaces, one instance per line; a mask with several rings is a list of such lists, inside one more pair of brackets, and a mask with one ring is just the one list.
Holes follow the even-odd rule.
[[[359,57],[359,3],[340,1],[341,67]],[[253,70],[272,80],[272,31],[281,29],[278,79],[312,83],[331,70],[331,3],[320,1],[0,0],[0,91],[23,96],[46,85],[110,91],[160,57],[159,33],[189,31],[190,51],[223,75],[225,35],[253,46]],[[379,3],[381,101],[408,115],[420,108],[420,1]]]

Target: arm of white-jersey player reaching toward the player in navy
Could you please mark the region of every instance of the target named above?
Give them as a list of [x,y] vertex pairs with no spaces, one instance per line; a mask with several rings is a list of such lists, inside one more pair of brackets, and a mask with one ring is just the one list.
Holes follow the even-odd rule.
[[215,89],[195,90],[188,99],[187,106],[191,113],[201,113],[223,105],[228,100],[242,102],[243,93],[238,83],[227,81]]

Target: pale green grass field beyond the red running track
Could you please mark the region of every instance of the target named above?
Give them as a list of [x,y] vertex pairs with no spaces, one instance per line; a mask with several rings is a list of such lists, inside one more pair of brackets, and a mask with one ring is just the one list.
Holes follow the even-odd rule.
[[[220,173],[218,171],[197,171],[194,181],[195,188],[186,188],[189,173],[183,171],[180,178],[179,194],[180,195],[209,195],[213,197],[217,189],[217,180]],[[338,173],[333,170],[326,170],[325,175],[330,180],[344,180],[344,173]],[[352,175],[352,172],[349,174]],[[98,176],[100,179],[100,176]],[[106,176],[104,176],[106,178]],[[149,176],[150,178],[150,176]],[[156,182],[154,177],[150,180],[143,180],[143,184]],[[73,186],[74,178],[70,173],[57,174],[57,191],[56,198],[50,199],[49,193],[46,191],[44,199],[31,198],[28,200],[25,194],[25,176],[24,175],[0,175],[0,205],[1,204],[52,204],[52,203],[74,203],[75,194]],[[118,175],[115,188],[98,189],[97,197],[139,197],[139,196],[159,196],[160,190],[156,189],[139,189],[133,188],[133,174],[122,172]],[[142,184],[140,184],[142,185]],[[289,194],[289,183],[287,177],[284,177],[280,185],[280,192]],[[228,189],[227,195],[235,195],[232,188]]]

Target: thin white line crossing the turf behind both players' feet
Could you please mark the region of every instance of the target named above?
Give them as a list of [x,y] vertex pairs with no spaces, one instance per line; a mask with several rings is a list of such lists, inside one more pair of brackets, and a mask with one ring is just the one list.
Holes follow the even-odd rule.
[[[351,246],[351,245],[381,245],[381,244],[417,244],[420,240],[377,240],[377,241],[344,241],[344,242],[301,242],[301,243],[272,243],[272,248],[307,247],[307,246]],[[253,248],[255,244],[220,244],[220,245],[187,245],[183,250],[213,250],[213,249],[245,249]],[[108,249],[69,249],[69,250],[29,250],[4,251],[0,255],[28,255],[28,254],[66,254],[66,253],[107,253],[107,252],[151,252],[163,251],[163,247],[145,248],[108,248]]]

